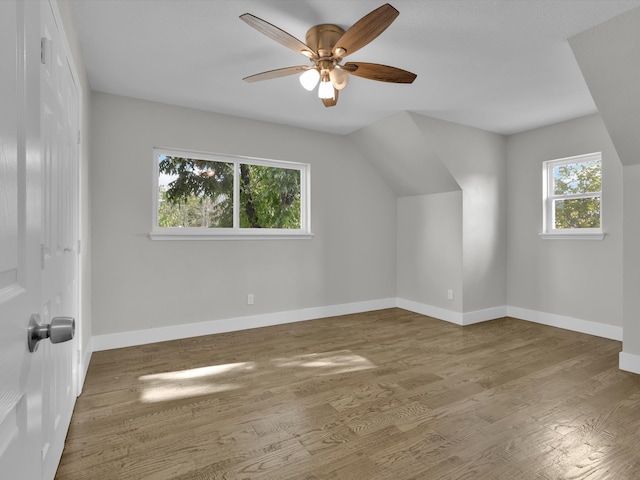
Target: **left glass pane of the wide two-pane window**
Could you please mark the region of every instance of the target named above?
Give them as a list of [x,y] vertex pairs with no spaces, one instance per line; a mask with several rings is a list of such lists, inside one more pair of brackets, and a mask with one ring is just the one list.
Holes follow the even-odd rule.
[[158,155],[159,227],[233,227],[233,163]]

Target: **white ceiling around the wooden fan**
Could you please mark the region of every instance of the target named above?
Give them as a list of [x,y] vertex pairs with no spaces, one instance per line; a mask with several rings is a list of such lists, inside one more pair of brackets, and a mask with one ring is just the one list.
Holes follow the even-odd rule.
[[412,85],[358,77],[325,108],[297,76],[243,77],[308,60],[246,25],[249,12],[304,41],[348,28],[382,0],[73,0],[91,88],[333,133],[412,111],[510,134],[596,111],[567,39],[640,0],[392,0],[400,11],[347,57],[412,71]]

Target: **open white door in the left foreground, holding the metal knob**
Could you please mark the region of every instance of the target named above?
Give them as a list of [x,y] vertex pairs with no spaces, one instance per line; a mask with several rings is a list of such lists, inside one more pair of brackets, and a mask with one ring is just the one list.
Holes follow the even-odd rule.
[[37,2],[0,1],[0,476],[27,480],[42,475],[42,358],[27,348],[40,306],[39,17]]

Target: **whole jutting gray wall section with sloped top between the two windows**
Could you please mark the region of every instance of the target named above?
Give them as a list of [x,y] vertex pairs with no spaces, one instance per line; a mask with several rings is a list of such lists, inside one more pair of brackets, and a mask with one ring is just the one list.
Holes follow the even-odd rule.
[[399,197],[398,298],[460,313],[503,307],[505,137],[400,112],[349,138]]

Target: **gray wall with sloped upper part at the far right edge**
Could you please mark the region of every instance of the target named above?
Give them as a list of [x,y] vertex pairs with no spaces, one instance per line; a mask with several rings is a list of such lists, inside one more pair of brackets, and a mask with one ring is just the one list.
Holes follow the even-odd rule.
[[[640,373],[640,8],[569,40],[624,165],[624,292],[621,366]],[[631,357],[629,357],[631,355]]]

